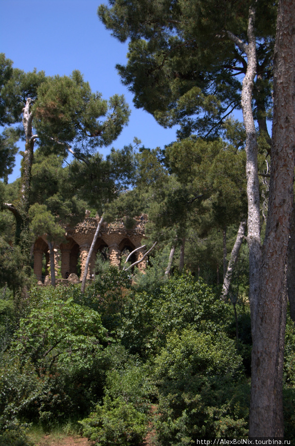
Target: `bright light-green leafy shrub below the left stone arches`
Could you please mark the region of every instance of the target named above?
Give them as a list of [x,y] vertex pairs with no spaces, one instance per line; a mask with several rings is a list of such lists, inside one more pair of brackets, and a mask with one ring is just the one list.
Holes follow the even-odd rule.
[[60,298],[64,288],[44,293],[29,316],[21,319],[10,349],[49,373],[91,366],[106,341],[99,314],[76,304],[71,296]]

